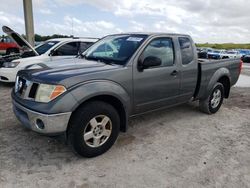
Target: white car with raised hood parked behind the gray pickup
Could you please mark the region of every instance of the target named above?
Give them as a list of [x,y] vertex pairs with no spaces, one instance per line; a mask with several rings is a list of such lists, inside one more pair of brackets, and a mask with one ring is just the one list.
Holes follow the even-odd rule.
[[1,82],[15,82],[16,74],[19,70],[34,64],[74,58],[98,40],[96,38],[56,38],[33,48],[16,32],[10,30],[10,32],[7,31],[5,33],[13,38],[20,48],[29,48],[29,53],[32,53],[33,56],[3,63],[0,68]]

